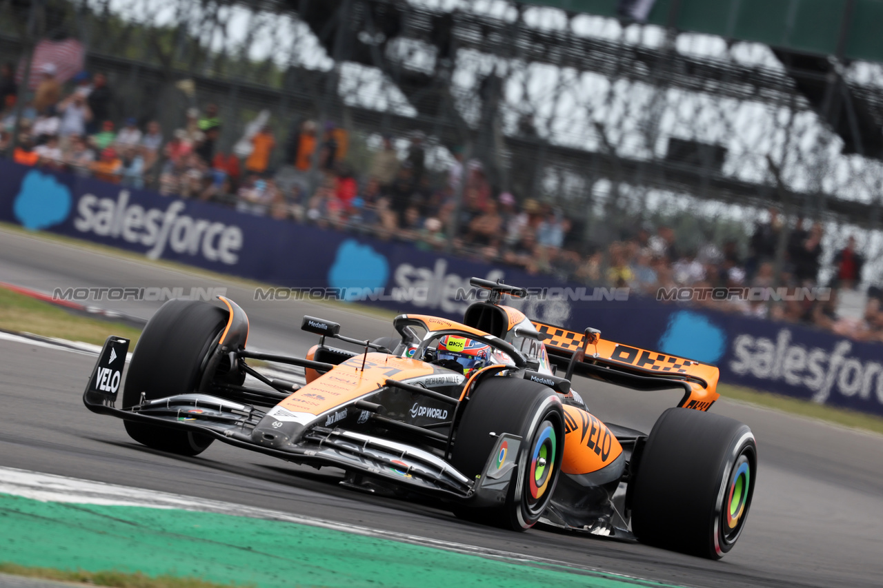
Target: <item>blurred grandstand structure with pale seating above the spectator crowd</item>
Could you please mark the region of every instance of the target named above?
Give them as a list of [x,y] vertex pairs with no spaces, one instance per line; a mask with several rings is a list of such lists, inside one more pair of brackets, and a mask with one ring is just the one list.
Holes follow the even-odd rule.
[[[267,108],[282,119],[305,113],[346,122],[365,132],[404,134],[419,129],[445,146],[472,143],[472,153],[490,164],[494,183],[520,198],[541,189],[550,177],[577,177],[582,180],[577,182],[580,186],[591,186],[601,178],[613,182],[629,178],[628,183],[638,178],[646,188],[703,199],[755,206],[799,201],[807,215],[869,228],[879,223],[876,199],[857,198],[848,187],[801,185],[787,178],[784,185],[776,185],[775,174],[764,173],[767,170],[755,174],[766,176],[761,181],[745,179],[727,168],[748,164],[745,152],[759,146],[721,145],[701,136],[715,134],[715,126],[732,124],[725,120],[721,104],[751,103],[771,111],[810,112],[818,128],[798,132],[829,134],[820,139],[841,143],[842,155],[879,159],[883,153],[883,102],[873,87],[854,83],[849,76],[855,57],[880,57],[874,54],[878,44],[873,42],[873,31],[864,24],[876,14],[873,11],[879,11],[877,2],[723,2],[703,9],[707,3],[660,1],[651,12],[654,24],[650,25],[612,20],[615,0],[207,2],[196,12],[184,7],[196,3],[185,0],[49,1],[33,5],[39,4],[48,13],[44,19],[50,29],[47,34],[72,34],[83,40],[89,67],[116,74],[117,86],[127,87],[126,112],[137,110],[143,118],[154,117],[149,110],[165,103],[171,83],[192,79],[199,100],[224,103],[232,114],[227,118],[237,120],[238,126],[245,123],[247,112]],[[544,9],[533,4],[562,10],[551,16],[539,15]],[[781,11],[785,4],[795,5],[793,13]],[[825,10],[817,10],[817,4]],[[451,6],[454,10],[449,10]],[[57,11],[54,28],[52,11]],[[189,15],[189,19],[174,26],[151,26],[151,15],[156,22],[161,11]],[[236,11],[249,15],[239,18],[239,54],[226,46],[213,51],[209,39],[217,38],[215,28],[226,26],[223,19],[232,19]],[[600,16],[591,18],[590,13]],[[126,14],[128,22],[122,18]],[[289,18],[273,19],[274,15]],[[554,23],[544,25],[543,19]],[[770,30],[759,25],[760,20],[770,21],[765,25]],[[396,94],[404,96],[411,112],[403,115],[396,109],[378,109],[374,104],[382,101],[377,97],[353,100],[329,89],[343,86],[336,79],[343,75],[340,68],[305,67],[299,64],[302,57],[289,60],[292,64],[286,67],[283,62],[288,56],[280,55],[267,55],[263,63],[253,64],[256,66],[244,63],[243,56],[250,50],[245,45],[256,45],[261,36],[270,35],[275,45],[282,46],[279,41],[283,38],[303,34],[295,33],[296,21],[306,23],[318,41],[319,47],[313,50],[323,51],[336,63],[360,64],[381,72]],[[674,28],[666,32],[658,25]],[[653,30],[656,40],[636,41],[636,37],[648,36],[648,27],[659,29]],[[636,34],[636,28],[645,30]],[[683,49],[691,37],[706,32],[723,34],[718,38],[720,43],[711,44],[722,43],[725,48]],[[227,33],[235,36],[230,30]],[[129,49],[132,34],[142,41],[137,43],[139,50]],[[174,46],[163,42],[172,39]],[[736,50],[751,43],[743,40],[752,39],[773,43],[765,59],[737,57]],[[21,49],[21,38],[14,31],[4,31],[0,41],[6,55]],[[511,96],[517,94],[513,88],[519,84],[536,86],[539,82],[525,78],[542,67],[546,72],[566,75],[540,90],[544,101],[513,102]],[[586,73],[620,82],[627,86],[624,94],[630,96],[610,92],[594,102],[576,101],[570,108],[557,104],[554,112],[543,111],[541,102],[578,94]],[[458,74],[468,74],[475,83],[457,83]],[[358,83],[346,86],[352,88],[351,93],[359,92]],[[672,90],[680,92],[672,94]],[[658,123],[652,119],[653,115],[670,115],[669,104],[648,113],[645,120],[635,121],[639,113],[634,112],[602,121],[596,117],[595,124],[579,127],[589,139],[575,140],[554,130],[569,128],[575,122],[574,111],[580,108],[602,109],[606,99],[628,109],[630,99],[641,102],[645,94],[663,100],[667,94],[669,100],[683,95],[701,96],[702,100],[668,129],[653,128]],[[352,106],[353,102],[357,105]],[[483,116],[487,109],[494,116]],[[678,129],[688,118],[701,119],[708,127],[706,132]],[[172,124],[167,121],[164,126]],[[638,149],[616,145],[615,139],[611,143],[609,138],[622,134],[620,130],[628,124],[638,127],[638,141],[655,140],[661,145],[645,145],[649,153],[641,154]],[[694,136],[671,140],[663,136],[667,132]],[[232,141],[237,134],[238,128],[230,127],[224,138]],[[812,159],[805,151],[795,149],[794,155],[800,160]],[[783,167],[787,167],[786,159],[782,158]],[[805,161],[802,168],[809,170],[818,163]],[[787,176],[787,171],[782,175]],[[547,192],[562,192],[560,188],[553,182]],[[584,192],[583,198],[591,194],[590,190]]]

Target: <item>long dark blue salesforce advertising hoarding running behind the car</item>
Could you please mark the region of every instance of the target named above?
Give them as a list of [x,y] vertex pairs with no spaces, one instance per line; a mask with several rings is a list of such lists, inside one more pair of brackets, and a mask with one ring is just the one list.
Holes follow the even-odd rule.
[[[196,200],[162,197],[0,161],[0,220],[238,275],[283,288],[336,288],[398,312],[462,317],[471,276],[526,288],[534,319],[599,328],[615,341],[698,359],[721,381],[883,415],[883,345],[803,325],[697,310],[529,275],[517,268],[420,251]],[[275,296],[279,292],[266,293]],[[283,291],[284,294],[284,291]],[[247,309],[247,301],[241,301]]]

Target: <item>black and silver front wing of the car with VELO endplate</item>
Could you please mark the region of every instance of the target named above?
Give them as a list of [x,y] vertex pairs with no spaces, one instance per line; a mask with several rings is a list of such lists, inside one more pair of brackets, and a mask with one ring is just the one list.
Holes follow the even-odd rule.
[[[509,454],[512,464],[497,464],[496,452],[492,452],[484,475],[468,479],[426,449],[340,427],[321,426],[321,423],[308,426],[297,442],[270,447],[261,444],[260,431],[255,432],[267,411],[208,394],[170,394],[155,400],[142,399],[129,408],[117,408],[115,403],[128,345],[128,340],[115,336],[108,337],[104,343],[83,394],[83,403],[89,411],[132,422],[185,429],[292,463],[334,466],[421,494],[470,501],[474,505],[497,503],[505,496],[516,469],[517,452]],[[498,444],[520,441],[513,435],[500,437]]]

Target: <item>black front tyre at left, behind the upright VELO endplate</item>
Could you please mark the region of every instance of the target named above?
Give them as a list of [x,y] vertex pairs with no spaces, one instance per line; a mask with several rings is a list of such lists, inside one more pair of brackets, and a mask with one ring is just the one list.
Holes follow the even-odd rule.
[[[228,313],[199,300],[174,299],[160,307],[141,333],[123,389],[123,408],[146,400],[197,391],[205,358],[227,324]],[[200,433],[125,421],[125,430],[142,445],[182,456],[196,456],[213,439]]]

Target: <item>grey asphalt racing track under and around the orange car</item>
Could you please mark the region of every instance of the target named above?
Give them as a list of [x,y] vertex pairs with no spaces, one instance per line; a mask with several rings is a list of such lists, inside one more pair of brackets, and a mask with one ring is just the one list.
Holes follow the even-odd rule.
[[[226,285],[252,321],[249,343],[302,352],[313,335],[303,313],[343,323],[343,333],[389,334],[389,323],[306,303],[254,303],[253,291],[204,277],[0,230],[0,281],[68,286]],[[108,304],[108,306],[110,306]],[[148,317],[158,304],[119,308]],[[614,333],[605,335],[615,338]],[[388,531],[531,554],[689,586],[879,586],[883,577],[883,437],[722,400],[713,411],[752,427],[759,472],[746,529],[721,562],[557,531],[514,533],[458,521],[414,504],[336,486],[315,471],[215,443],[195,458],[168,456],[128,439],[122,423],[88,412],[80,395],[94,357],[0,342],[0,465],[138,486],[317,516]],[[640,393],[579,381],[604,420],[649,430],[678,394]],[[419,584],[419,578],[414,578]]]

